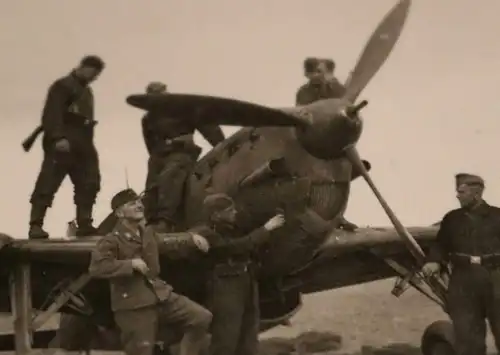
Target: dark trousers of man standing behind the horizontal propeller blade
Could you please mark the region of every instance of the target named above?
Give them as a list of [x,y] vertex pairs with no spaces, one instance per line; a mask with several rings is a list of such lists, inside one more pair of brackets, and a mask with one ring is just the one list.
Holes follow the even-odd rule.
[[175,224],[184,197],[184,185],[196,160],[190,152],[151,155],[144,195],[148,223],[165,220]]

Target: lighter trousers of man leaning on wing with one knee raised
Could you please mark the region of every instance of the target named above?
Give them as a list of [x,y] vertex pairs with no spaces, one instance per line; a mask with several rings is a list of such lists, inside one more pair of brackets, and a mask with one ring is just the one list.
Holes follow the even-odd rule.
[[157,341],[169,346],[180,339],[180,355],[195,354],[211,320],[207,309],[175,292],[158,305],[115,311],[126,355],[153,355]]

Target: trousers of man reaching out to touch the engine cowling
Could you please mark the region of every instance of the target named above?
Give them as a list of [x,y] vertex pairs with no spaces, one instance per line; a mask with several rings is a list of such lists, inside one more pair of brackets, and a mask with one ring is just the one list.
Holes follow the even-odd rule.
[[212,275],[210,355],[256,355],[259,335],[259,293],[253,272]]

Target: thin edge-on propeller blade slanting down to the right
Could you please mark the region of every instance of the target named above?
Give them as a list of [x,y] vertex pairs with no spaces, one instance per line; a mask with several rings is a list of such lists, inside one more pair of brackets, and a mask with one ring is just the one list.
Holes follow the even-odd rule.
[[388,203],[385,201],[384,197],[378,190],[377,186],[373,182],[372,178],[368,174],[368,171],[366,170],[357,149],[354,146],[351,146],[347,148],[346,150],[346,155],[347,158],[351,161],[352,165],[354,168],[361,173],[361,175],[364,177],[365,181],[367,184],[370,186],[371,190],[377,197],[377,200],[380,202],[382,205],[382,208],[384,209],[385,213],[391,220],[392,224],[394,225],[394,228],[398,232],[399,236],[403,239],[405,244],[408,247],[408,250],[412,253],[412,255],[417,259],[418,263],[421,264],[421,266],[425,263],[425,254],[420,245],[417,243],[415,238],[408,232],[408,230],[403,226],[403,224],[399,221],[399,219],[396,217],[395,213],[392,211],[392,209],[389,207]]

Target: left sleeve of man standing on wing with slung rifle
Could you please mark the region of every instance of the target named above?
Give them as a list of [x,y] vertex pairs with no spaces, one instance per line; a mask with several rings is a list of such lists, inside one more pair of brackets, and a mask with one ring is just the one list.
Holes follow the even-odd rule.
[[70,95],[69,90],[59,82],[49,88],[43,109],[42,126],[52,140],[64,138],[64,115]]

